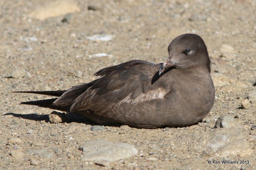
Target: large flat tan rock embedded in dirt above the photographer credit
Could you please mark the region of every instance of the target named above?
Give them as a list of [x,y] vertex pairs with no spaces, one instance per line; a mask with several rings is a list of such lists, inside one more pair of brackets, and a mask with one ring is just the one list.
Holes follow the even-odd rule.
[[243,157],[253,153],[242,128],[210,129],[173,137],[165,143],[173,145],[173,149],[198,152],[210,157]]

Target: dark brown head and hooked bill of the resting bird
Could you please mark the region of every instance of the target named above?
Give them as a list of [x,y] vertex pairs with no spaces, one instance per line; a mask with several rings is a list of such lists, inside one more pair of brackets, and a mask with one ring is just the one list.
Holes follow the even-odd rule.
[[196,34],[176,37],[168,46],[169,58],[162,63],[159,75],[168,68],[200,67],[210,72],[210,58],[204,40]]

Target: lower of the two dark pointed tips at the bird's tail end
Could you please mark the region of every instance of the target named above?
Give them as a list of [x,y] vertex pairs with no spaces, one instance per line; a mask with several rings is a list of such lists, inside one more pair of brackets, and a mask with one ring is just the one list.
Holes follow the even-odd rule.
[[20,104],[28,104],[28,105],[34,105],[39,107],[46,107],[50,109],[56,109],[60,111],[66,111],[68,112],[70,110],[70,107],[68,106],[56,106],[52,104],[57,98],[53,99],[46,99],[46,100],[36,100],[36,101],[30,101],[30,102],[21,102]]

